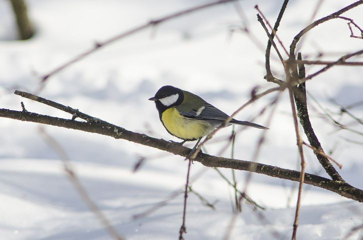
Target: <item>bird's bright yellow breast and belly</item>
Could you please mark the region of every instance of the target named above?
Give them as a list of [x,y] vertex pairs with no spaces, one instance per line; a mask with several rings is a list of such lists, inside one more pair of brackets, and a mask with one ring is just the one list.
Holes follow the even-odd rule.
[[161,115],[161,121],[171,134],[185,140],[198,139],[214,129],[206,120],[182,116],[175,107],[166,109]]

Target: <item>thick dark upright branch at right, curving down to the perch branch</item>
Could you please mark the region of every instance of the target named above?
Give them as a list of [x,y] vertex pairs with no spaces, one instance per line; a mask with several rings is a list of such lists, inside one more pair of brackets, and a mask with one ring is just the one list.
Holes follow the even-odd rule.
[[[301,59],[301,53],[298,54],[298,59]],[[304,77],[305,77],[304,64],[299,64],[299,78],[304,78]],[[318,149],[318,151],[314,151],[317,159],[319,160],[320,164],[324,167],[326,173],[331,177],[331,179],[344,181],[343,178],[336,171],[334,166],[331,164],[329,159],[326,156],[319,153],[319,151],[324,152],[324,150],[322,149],[321,144],[317,139],[317,136],[310,122],[309,113],[307,111],[305,82],[299,84],[297,88],[298,92],[294,93],[297,115],[300,119],[300,123],[302,125],[302,128],[304,129],[305,135],[307,136],[307,139],[310,142],[310,145]]]

